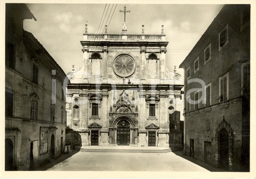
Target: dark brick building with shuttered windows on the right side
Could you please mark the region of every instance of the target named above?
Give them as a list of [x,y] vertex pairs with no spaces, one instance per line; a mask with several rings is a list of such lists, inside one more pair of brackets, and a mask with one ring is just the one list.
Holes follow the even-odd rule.
[[224,5],[180,68],[184,153],[227,171],[249,171],[250,5]]

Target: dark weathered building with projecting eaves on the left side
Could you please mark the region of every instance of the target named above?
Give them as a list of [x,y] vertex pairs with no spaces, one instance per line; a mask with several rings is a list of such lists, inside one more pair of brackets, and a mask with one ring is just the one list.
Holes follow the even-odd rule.
[[32,18],[36,20],[25,4],[6,4],[7,171],[33,170],[49,162],[61,154],[65,141],[67,78],[37,39],[23,30],[23,20]]

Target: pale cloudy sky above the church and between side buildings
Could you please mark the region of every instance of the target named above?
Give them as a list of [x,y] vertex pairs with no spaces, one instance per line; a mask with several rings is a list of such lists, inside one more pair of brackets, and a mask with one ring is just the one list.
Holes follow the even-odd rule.
[[[124,4],[27,4],[37,21],[25,20],[24,29],[33,33],[65,73],[83,63],[85,24],[88,33],[121,34]],[[116,8],[115,8],[116,7]],[[184,75],[179,65],[212,23],[223,4],[126,4],[128,34],[161,34],[164,25],[167,45],[166,66]],[[105,11],[104,11],[105,9]],[[104,12],[104,13],[103,13]],[[113,16],[112,16],[113,14]],[[112,16],[112,18],[111,18]],[[104,21],[101,17],[105,17]],[[101,23],[100,23],[101,21]]]

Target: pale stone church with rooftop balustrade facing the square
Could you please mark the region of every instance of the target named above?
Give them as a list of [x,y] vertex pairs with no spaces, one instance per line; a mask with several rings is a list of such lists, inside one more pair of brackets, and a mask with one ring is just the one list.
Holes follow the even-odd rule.
[[128,35],[124,22],[122,34],[89,34],[86,25],[83,65],[67,74],[67,143],[182,148],[183,81],[165,65],[160,32]]

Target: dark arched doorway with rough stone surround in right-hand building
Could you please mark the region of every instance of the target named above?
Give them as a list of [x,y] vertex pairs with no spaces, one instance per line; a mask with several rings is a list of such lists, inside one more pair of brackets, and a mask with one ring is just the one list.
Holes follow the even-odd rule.
[[229,168],[228,131],[225,128],[220,132],[220,166],[224,170],[228,170]]

